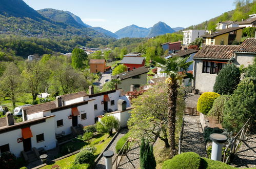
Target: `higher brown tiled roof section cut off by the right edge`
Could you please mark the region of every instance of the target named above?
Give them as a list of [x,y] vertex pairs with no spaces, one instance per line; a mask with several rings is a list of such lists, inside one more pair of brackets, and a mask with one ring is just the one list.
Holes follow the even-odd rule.
[[234,52],[256,53],[256,38],[245,39],[239,49]]

